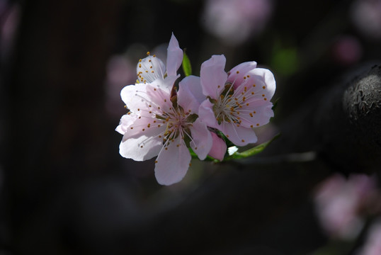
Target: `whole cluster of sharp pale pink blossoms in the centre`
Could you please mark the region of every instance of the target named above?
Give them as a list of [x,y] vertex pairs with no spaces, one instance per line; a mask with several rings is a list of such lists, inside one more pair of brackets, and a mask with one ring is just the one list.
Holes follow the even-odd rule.
[[222,161],[225,139],[237,146],[257,140],[254,128],[273,117],[275,79],[256,62],[224,72],[224,55],[203,62],[200,77],[180,77],[183,50],[172,35],[166,64],[149,55],[137,64],[137,83],[120,95],[127,114],[116,130],[123,135],[120,154],[144,161],[157,156],[155,176],[163,185],[181,181],[191,165],[190,148],[200,160]]

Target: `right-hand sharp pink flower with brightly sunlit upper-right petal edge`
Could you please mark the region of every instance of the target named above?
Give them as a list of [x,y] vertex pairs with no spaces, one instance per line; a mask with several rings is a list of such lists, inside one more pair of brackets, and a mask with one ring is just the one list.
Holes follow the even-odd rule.
[[268,69],[256,68],[256,62],[244,62],[226,73],[225,62],[224,55],[213,55],[201,65],[200,84],[207,99],[199,116],[234,145],[248,145],[257,141],[254,128],[273,117],[275,79]]

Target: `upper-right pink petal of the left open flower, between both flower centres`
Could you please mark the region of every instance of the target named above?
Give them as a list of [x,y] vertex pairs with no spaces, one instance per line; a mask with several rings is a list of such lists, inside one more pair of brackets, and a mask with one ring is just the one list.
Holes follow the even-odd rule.
[[205,96],[201,90],[200,77],[191,75],[180,81],[178,84],[177,102],[186,113],[191,110],[197,114],[198,107],[204,100]]

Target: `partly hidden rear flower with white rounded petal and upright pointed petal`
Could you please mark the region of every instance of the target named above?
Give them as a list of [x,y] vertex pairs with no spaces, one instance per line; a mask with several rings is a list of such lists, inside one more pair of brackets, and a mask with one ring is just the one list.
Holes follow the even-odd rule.
[[136,67],[137,81],[141,83],[151,83],[156,79],[164,79],[166,76],[176,76],[177,69],[183,61],[183,50],[179,47],[174,34],[169,41],[166,66],[156,55],[151,56],[149,52],[147,55],[144,59],[139,60]]

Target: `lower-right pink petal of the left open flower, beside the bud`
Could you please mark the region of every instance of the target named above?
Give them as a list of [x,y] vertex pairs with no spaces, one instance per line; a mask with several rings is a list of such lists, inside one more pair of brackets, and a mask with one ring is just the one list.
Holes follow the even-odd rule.
[[200,118],[195,120],[191,128],[192,140],[191,148],[198,155],[198,158],[204,160],[212,148],[212,135],[207,130],[205,123],[202,123]]

